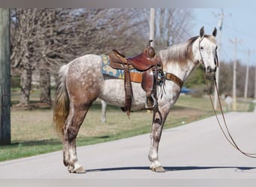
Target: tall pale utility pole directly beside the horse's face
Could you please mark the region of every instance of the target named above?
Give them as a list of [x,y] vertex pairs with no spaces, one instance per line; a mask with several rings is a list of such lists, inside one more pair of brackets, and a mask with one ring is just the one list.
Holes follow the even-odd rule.
[[[219,13],[219,43],[218,43],[218,54],[220,54],[220,48],[222,45],[222,25],[223,25],[223,17],[224,17],[224,13],[223,13],[223,9],[222,9],[222,13]],[[220,59],[220,58],[219,58]],[[219,63],[219,68],[220,68],[220,63]],[[216,70],[216,87],[217,89],[219,89],[219,68],[217,68]],[[217,105],[218,105],[218,92],[216,91],[216,89],[214,90],[214,100],[213,100],[213,105],[214,105],[214,109],[217,109]]]

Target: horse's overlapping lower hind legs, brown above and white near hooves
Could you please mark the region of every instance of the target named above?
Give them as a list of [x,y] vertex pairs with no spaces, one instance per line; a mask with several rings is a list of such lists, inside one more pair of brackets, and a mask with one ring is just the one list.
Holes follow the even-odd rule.
[[76,155],[76,136],[82,125],[90,105],[76,105],[70,107],[63,135],[64,165],[70,173],[85,173],[85,169],[79,164]]

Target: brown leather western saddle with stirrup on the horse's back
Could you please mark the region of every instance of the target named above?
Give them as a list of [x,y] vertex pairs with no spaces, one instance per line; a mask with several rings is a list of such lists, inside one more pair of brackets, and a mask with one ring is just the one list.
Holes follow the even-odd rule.
[[[124,70],[124,91],[125,91],[125,107],[129,117],[132,107],[132,81],[141,82],[141,88],[146,92],[145,107],[153,109],[157,105],[156,85],[162,85],[165,76],[162,70],[162,61],[155,50],[148,42],[147,47],[139,55],[126,58],[125,55],[113,49],[109,55],[109,65],[118,70]],[[135,69],[140,73],[130,73],[130,70]],[[136,77],[133,77],[136,76]]]

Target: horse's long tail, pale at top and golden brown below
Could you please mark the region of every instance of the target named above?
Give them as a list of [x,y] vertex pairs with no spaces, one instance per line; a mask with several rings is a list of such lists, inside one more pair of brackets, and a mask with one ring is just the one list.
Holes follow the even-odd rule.
[[63,128],[70,109],[70,99],[66,87],[66,74],[68,66],[64,65],[58,72],[58,81],[55,86],[55,100],[53,102],[53,124],[55,131],[62,137]]

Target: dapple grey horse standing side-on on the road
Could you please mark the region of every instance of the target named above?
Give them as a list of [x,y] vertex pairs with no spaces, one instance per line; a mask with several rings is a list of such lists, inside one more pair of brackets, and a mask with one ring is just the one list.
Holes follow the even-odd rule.
[[[192,70],[202,64],[206,73],[214,74],[217,68],[216,34],[216,28],[212,34],[204,34],[204,27],[202,27],[199,36],[156,52],[162,60],[164,72],[171,73],[185,82]],[[61,135],[63,162],[70,173],[86,172],[79,164],[76,155],[76,136],[93,102],[99,98],[119,107],[124,107],[125,104],[124,80],[104,79],[101,65],[100,55],[88,54],[70,61],[58,72],[53,123],[56,132]],[[164,91],[157,89],[157,94],[161,96],[157,97],[158,104],[153,109],[150,132],[148,159],[150,169],[156,172],[165,172],[158,158],[159,141],[165,119],[181,90],[181,86],[172,79],[167,79],[167,76],[164,85]],[[146,93],[141,85],[132,82],[132,91],[132,110],[145,109]]]

